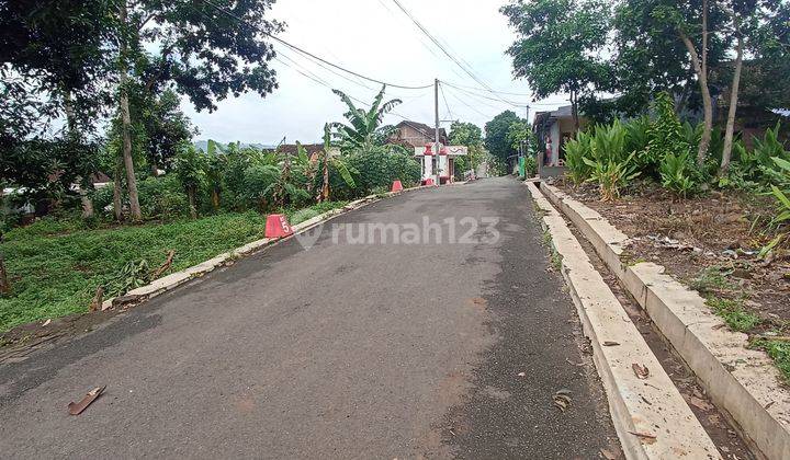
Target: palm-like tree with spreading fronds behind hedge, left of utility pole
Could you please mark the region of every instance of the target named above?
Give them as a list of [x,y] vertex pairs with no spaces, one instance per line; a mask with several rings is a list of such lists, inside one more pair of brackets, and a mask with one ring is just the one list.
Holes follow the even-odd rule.
[[375,143],[375,139],[386,135],[387,128],[382,126],[384,115],[390,113],[396,105],[400,104],[399,99],[393,99],[385,103],[384,90],[386,84],[373,100],[371,107],[365,111],[358,108],[346,93],[340,90],[332,90],[335,94],[348,106],[348,112],[343,114],[350,125],[343,123],[330,123],[329,127],[335,129],[335,135],[339,138],[343,149],[369,149]]

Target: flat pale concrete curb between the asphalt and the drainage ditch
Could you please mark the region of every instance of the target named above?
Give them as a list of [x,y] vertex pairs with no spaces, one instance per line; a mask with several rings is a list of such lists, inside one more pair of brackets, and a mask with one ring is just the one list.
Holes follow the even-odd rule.
[[[534,183],[524,183],[544,212],[542,225],[562,256],[562,274],[592,345],[592,359],[628,459],[721,458],[669,376],[631,322],[562,216]],[[617,343],[607,346],[605,343]],[[646,366],[640,379],[633,364]],[[647,435],[647,436],[644,436]]]

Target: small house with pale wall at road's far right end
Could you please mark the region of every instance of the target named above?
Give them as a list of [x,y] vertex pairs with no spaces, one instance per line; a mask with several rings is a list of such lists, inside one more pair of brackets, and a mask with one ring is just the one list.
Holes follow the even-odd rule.
[[[586,125],[587,118],[579,115],[579,129]],[[539,174],[541,177],[561,175],[565,166],[565,142],[573,139],[575,131],[572,106],[535,113],[532,131],[538,145],[544,146],[543,154],[538,156]]]

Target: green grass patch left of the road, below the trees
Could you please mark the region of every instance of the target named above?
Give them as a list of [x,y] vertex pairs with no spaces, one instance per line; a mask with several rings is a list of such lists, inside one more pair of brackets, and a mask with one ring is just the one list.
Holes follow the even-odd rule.
[[[311,217],[342,206],[315,205]],[[86,312],[95,289],[112,284],[129,262],[145,260],[156,268],[174,250],[171,271],[179,271],[263,238],[264,229],[266,216],[255,211],[103,228],[43,219],[13,229],[0,245],[12,286],[11,295],[0,298],[0,332]]]

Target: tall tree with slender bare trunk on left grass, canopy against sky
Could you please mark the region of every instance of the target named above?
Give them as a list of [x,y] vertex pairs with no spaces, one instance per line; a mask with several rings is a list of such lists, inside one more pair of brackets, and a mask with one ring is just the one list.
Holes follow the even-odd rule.
[[228,94],[276,88],[268,61],[274,49],[268,34],[283,25],[266,19],[273,0],[213,0],[192,2],[119,0],[117,43],[119,112],[122,119],[123,160],[132,217],[142,216],[136,196],[132,156],[129,87],[145,92],[173,88],[200,110],[216,108]]

